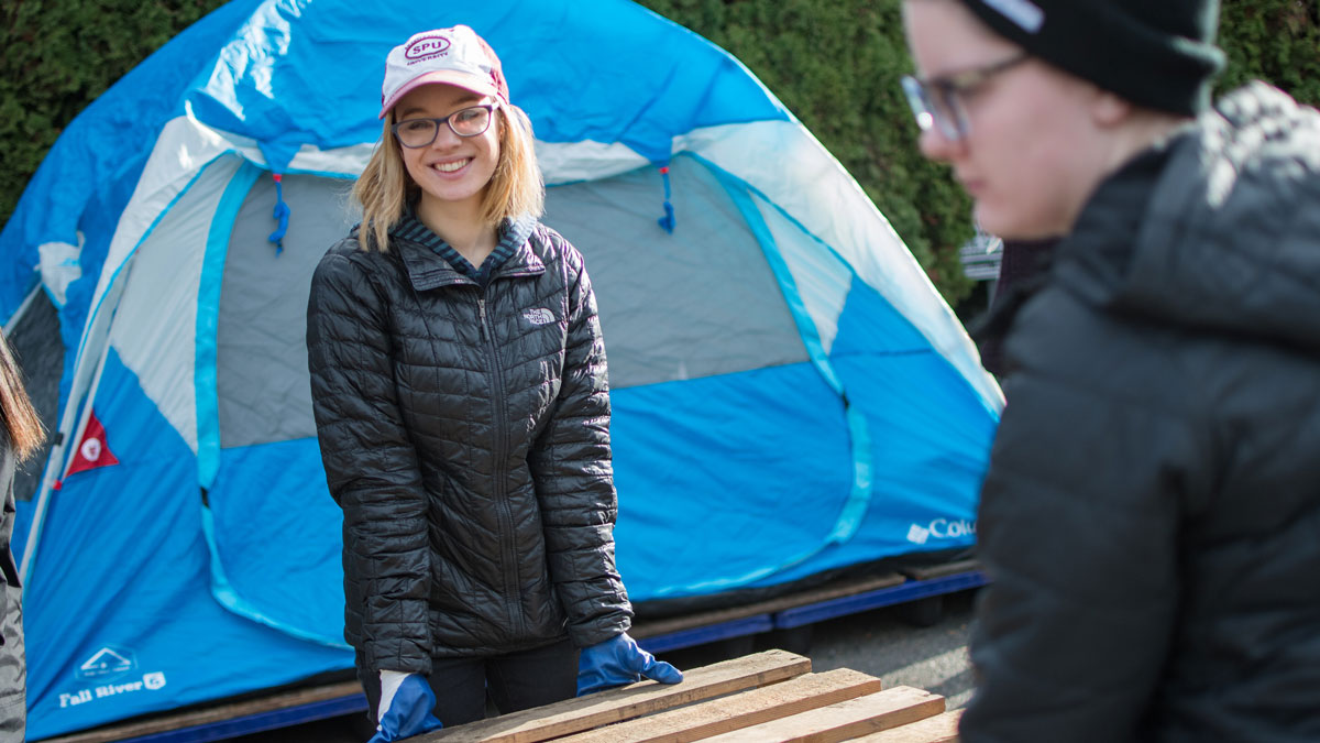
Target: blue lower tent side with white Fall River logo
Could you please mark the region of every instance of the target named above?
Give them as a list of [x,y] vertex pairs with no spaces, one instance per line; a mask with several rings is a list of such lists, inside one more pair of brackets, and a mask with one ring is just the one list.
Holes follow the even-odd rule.
[[[350,650],[290,641],[198,591],[211,553],[190,452],[114,354],[102,389],[107,430],[152,447],[115,448],[120,464],[69,476],[51,506],[41,549],[61,557],[36,563],[24,607],[29,739],[351,668]],[[90,662],[107,648],[124,660]]]

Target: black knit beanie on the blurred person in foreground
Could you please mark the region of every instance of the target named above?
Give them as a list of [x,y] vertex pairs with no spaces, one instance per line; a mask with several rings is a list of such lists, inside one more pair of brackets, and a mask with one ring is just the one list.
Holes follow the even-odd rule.
[[1034,57],[1138,106],[1196,115],[1224,66],[1218,0],[961,0]]

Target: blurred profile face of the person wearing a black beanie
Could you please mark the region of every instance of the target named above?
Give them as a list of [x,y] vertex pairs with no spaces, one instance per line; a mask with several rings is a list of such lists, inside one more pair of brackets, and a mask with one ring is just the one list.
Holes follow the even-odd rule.
[[[940,79],[1022,54],[957,0],[907,0],[908,46],[924,79]],[[1069,231],[1100,178],[1111,148],[1097,111],[1105,94],[1030,58],[960,94],[966,136],[939,127],[921,135],[921,152],[952,165],[975,201],[982,229],[1003,238]]]

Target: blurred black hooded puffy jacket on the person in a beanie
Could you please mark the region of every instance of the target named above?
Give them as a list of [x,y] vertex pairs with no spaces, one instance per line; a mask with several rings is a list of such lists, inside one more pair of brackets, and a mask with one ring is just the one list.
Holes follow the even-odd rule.
[[1320,740],[1320,114],[1232,95],[1006,311],[962,740]]

